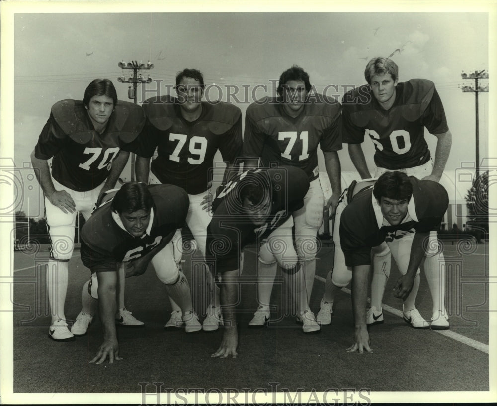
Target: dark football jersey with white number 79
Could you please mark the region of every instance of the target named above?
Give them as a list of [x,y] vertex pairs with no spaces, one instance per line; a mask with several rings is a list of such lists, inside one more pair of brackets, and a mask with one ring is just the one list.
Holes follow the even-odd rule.
[[231,104],[202,102],[200,117],[190,122],[182,117],[176,101],[169,95],[145,101],[142,107],[147,122],[137,154],[152,157],[157,148],[151,171],[159,181],[199,194],[210,186],[218,149],[230,163],[240,155],[242,113]]

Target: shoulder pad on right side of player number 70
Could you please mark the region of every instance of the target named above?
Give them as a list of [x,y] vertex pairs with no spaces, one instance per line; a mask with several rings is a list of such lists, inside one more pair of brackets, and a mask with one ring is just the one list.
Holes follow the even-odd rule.
[[122,142],[130,143],[142,131],[145,113],[137,104],[118,100],[108,125],[107,132],[117,133]]

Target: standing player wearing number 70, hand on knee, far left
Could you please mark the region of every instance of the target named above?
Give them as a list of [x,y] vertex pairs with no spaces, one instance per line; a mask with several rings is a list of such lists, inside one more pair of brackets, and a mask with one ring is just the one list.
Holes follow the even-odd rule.
[[[74,340],[66,323],[64,304],[77,213],[87,220],[97,200],[115,186],[144,123],[139,106],[118,102],[112,82],[95,79],[86,87],[83,101],[62,100],[52,106],[31,154],[45,194],[51,241],[47,290],[52,317],[49,337],[53,340]],[[124,307],[124,273],[120,281],[117,317],[123,325],[143,324]]]

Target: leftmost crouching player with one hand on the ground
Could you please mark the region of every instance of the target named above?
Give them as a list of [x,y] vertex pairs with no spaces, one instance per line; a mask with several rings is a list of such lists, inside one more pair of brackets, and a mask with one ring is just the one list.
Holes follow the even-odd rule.
[[[107,197],[106,197],[107,199]],[[197,331],[201,325],[192,311],[190,287],[184,274],[171,261],[176,230],[182,227],[188,210],[188,195],[172,185],[125,183],[112,199],[101,205],[81,231],[81,259],[96,274],[103,343],[90,361],[101,364],[119,357],[116,335],[117,271],[126,277],[142,275],[151,262],[157,277],[183,311],[183,321]]]

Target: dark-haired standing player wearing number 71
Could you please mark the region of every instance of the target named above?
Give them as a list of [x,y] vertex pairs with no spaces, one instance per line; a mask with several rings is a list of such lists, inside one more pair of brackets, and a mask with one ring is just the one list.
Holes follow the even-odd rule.
[[[337,151],[342,148],[340,104],[311,89],[309,75],[302,68],[292,66],[283,72],[279,78],[278,97],[266,97],[248,107],[243,144],[244,157],[260,159],[262,166],[267,167],[275,163],[296,166],[309,177],[304,207],[293,214],[295,243],[299,264],[304,269],[308,300],[316,273],[317,232],[325,206],[318,178],[317,150],[319,146],[323,151],[333,191],[325,206],[326,212],[331,207],[332,217],[341,194]],[[255,162],[252,160],[251,164],[255,165]],[[269,302],[276,274],[274,261],[259,257],[258,266],[259,307],[249,323],[251,327],[264,325],[270,317]]]

